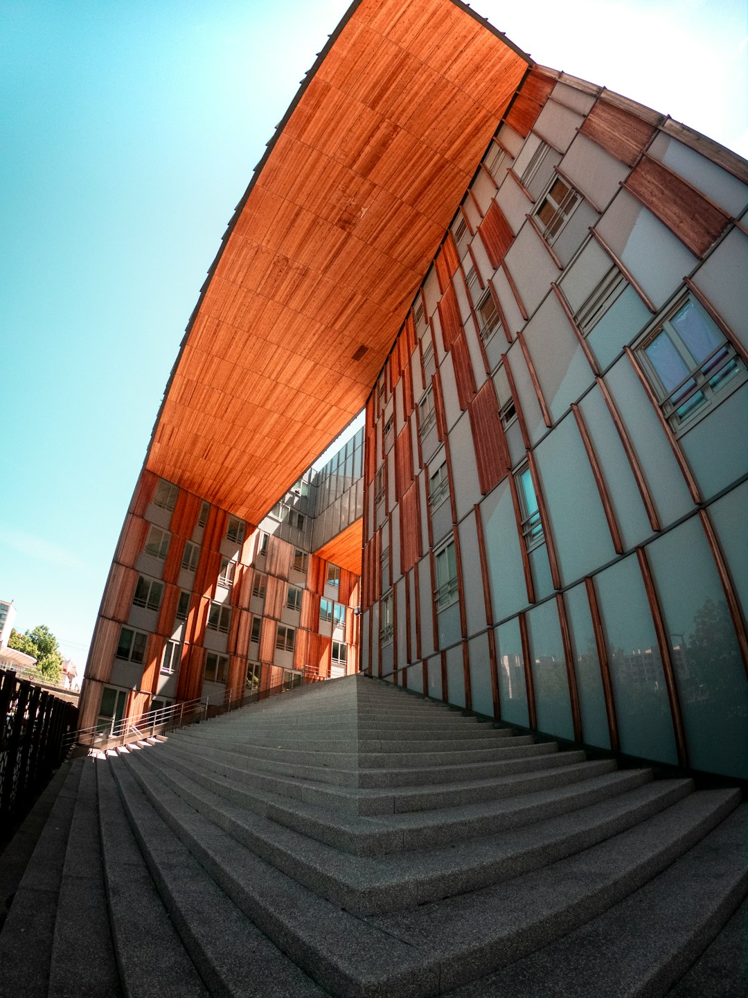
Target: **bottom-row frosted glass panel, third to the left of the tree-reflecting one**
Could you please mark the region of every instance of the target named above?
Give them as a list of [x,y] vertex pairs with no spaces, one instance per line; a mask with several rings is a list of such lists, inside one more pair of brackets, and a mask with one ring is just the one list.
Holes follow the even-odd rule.
[[556,600],[527,615],[538,730],[561,739],[574,737],[568,678]]

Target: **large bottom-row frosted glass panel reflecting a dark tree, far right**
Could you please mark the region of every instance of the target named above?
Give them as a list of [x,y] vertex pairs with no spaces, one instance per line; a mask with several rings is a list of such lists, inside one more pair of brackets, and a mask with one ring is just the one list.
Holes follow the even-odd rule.
[[748,777],[748,687],[706,535],[693,517],[647,547],[694,769]]

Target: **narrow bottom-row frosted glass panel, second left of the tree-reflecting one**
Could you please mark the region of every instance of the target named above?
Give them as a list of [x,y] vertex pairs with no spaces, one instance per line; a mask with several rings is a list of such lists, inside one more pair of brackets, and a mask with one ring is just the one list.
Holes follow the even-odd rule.
[[571,653],[576,672],[581,738],[587,745],[609,749],[610,733],[605,713],[605,695],[586,589],[583,585],[574,586],[564,593],[563,599],[566,604]]

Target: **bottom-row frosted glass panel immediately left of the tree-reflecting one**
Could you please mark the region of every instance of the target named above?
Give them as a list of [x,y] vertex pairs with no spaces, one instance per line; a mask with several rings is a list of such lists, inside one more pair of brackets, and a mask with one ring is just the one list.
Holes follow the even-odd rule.
[[607,645],[620,749],[676,764],[670,704],[634,555],[594,578]]

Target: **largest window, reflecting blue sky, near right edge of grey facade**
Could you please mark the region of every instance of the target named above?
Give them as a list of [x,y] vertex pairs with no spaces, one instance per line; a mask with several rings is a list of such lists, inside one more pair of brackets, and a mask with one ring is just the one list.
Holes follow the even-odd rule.
[[637,354],[674,429],[691,425],[726,385],[745,379],[732,345],[690,295],[644,337]]

